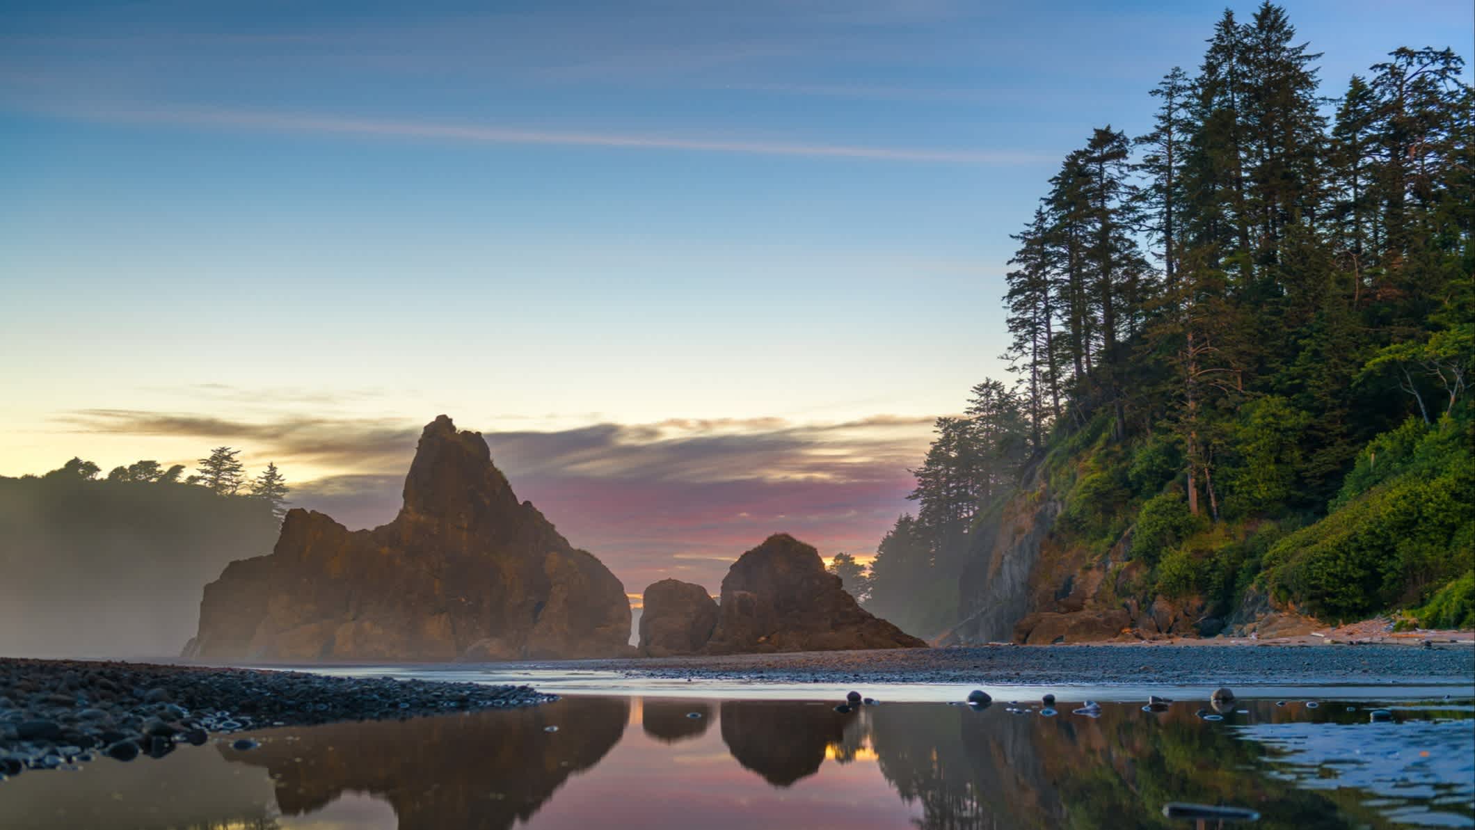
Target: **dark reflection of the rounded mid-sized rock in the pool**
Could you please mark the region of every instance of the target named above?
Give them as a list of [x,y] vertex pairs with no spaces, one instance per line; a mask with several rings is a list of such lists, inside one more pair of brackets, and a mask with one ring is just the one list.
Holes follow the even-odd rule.
[[856,715],[841,715],[829,703],[727,700],[721,708],[723,743],[738,764],[786,787],[819,773],[825,747],[845,742]]

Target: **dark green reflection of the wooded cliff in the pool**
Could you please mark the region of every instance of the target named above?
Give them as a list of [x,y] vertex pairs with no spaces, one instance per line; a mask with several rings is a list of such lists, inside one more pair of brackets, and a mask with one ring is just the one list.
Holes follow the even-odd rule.
[[881,773],[920,803],[923,829],[1181,827],[1162,817],[1170,801],[1249,806],[1261,830],[1351,827],[1326,795],[1249,771],[1261,749],[1183,705],[1168,715],[1108,706],[1090,721],[997,706],[892,703],[866,714]]

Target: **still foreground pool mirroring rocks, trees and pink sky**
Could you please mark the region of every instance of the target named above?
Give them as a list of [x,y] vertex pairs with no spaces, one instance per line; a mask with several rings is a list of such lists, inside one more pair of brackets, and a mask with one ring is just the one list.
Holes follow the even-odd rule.
[[[513,712],[249,733],[161,759],[0,783],[30,829],[1193,827],[1168,802],[1254,809],[1257,829],[1475,827],[1475,708],[1248,700],[1146,712],[565,696]],[[1016,709],[1016,712],[1010,712]],[[232,736],[232,740],[240,736]],[[1215,827],[1217,824],[1199,824]]]

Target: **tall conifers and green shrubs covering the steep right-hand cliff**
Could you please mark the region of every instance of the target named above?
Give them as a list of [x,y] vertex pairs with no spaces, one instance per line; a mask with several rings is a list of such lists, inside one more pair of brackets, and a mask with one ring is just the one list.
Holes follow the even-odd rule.
[[1152,130],[1094,130],[1013,239],[1015,385],[937,422],[869,606],[957,618],[1024,482],[1062,544],[1221,610],[1251,585],[1326,618],[1475,622],[1475,156],[1463,60],[1397,49],[1339,99],[1283,9],[1214,27]]

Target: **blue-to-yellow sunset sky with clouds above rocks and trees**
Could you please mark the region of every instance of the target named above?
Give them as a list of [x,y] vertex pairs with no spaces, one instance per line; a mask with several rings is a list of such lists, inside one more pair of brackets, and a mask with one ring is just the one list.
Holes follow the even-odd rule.
[[[0,475],[226,444],[373,526],[445,413],[633,593],[870,553],[1006,374],[1009,233],[1223,7],[7,4]],[[1471,56],[1468,0],[1286,7],[1329,96]]]

